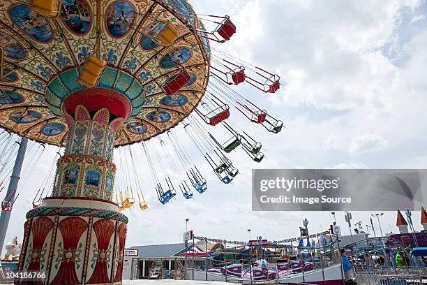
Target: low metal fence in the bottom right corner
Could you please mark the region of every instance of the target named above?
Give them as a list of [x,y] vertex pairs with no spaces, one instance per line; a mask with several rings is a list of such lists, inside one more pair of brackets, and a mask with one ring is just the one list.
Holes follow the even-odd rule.
[[366,268],[356,274],[358,285],[427,284],[427,268]]

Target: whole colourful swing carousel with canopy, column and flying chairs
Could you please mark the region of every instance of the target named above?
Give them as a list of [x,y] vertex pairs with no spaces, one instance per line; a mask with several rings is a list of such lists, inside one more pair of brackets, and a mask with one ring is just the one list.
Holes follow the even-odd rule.
[[148,208],[128,146],[140,142],[161,204],[208,189],[172,131],[180,122],[225,184],[239,173],[230,152],[262,161],[232,109],[272,134],[283,122],[233,87],[273,94],[280,78],[220,50],[236,31],[227,15],[197,15],[185,0],[0,1],[0,126],[22,136],[20,149],[27,138],[64,147],[52,192],[40,189],[27,213],[20,270],[47,270],[40,284],[120,284],[122,211]]

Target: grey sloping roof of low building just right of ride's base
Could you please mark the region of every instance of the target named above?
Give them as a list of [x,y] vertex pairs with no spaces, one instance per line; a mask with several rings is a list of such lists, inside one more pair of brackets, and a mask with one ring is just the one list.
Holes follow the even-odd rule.
[[[191,247],[188,244],[188,247]],[[131,247],[133,249],[140,249],[139,258],[170,258],[179,256],[179,253],[186,251],[185,243],[178,244],[155,244],[155,245],[142,245],[137,247]]]

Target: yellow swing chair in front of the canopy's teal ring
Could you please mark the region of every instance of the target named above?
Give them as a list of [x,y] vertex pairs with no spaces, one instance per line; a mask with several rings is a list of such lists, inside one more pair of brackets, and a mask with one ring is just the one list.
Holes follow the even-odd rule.
[[87,88],[91,88],[98,84],[108,64],[105,57],[99,54],[100,58],[98,58],[94,54],[96,54],[94,51],[89,53],[86,63],[80,72],[79,78],[77,78],[77,82]]

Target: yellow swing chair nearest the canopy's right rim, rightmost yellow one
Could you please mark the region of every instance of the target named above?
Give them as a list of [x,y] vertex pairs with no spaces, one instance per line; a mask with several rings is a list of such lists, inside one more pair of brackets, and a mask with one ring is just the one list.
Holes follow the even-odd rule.
[[152,41],[168,47],[174,43],[178,38],[178,29],[170,20],[155,20],[153,24],[144,33],[145,36],[151,38]]

